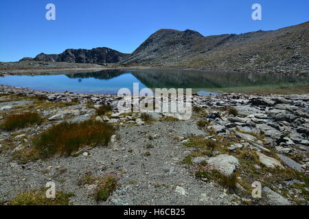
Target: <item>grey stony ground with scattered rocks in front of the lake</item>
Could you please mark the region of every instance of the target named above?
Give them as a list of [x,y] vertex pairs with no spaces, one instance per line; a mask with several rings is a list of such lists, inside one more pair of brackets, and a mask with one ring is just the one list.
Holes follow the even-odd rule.
[[[54,181],[57,190],[74,193],[73,205],[308,205],[308,95],[195,95],[190,120],[150,114],[149,123],[138,113],[118,114],[117,96],[8,86],[0,95],[0,123],[26,111],[45,118],[41,125],[1,129],[0,203]],[[96,116],[102,104],[113,112]],[[117,127],[108,146],[71,157],[27,157],[32,137],[44,129],[89,119]],[[235,185],[220,183],[211,170],[236,176]],[[110,174],[119,185],[107,201],[94,200],[95,182],[80,183],[86,175]],[[262,183],[262,198],[251,196],[254,181]]]

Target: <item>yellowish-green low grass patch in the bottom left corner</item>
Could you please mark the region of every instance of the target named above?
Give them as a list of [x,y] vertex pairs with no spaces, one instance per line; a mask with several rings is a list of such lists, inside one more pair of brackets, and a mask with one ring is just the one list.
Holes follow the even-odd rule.
[[46,190],[31,190],[17,195],[8,205],[69,205],[73,193],[56,191],[56,198],[46,198]]

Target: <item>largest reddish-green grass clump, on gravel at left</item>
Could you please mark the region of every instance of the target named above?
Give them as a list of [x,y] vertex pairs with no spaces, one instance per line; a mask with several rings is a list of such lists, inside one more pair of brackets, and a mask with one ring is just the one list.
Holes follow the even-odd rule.
[[34,138],[38,157],[71,155],[84,146],[107,145],[115,128],[107,123],[87,120],[82,123],[62,122]]

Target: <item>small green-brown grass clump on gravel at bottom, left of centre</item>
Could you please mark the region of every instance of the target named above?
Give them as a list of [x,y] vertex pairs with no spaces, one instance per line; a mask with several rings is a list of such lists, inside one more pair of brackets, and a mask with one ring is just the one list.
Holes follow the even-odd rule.
[[94,193],[96,201],[106,201],[117,188],[116,177],[109,175],[99,180],[98,186]]

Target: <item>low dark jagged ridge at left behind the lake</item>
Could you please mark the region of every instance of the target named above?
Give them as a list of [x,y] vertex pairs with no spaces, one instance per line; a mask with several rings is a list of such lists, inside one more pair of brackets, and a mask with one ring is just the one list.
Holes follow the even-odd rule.
[[21,61],[34,60],[42,62],[73,62],[73,63],[93,63],[93,64],[111,64],[122,60],[127,54],[120,53],[113,49],[100,47],[95,49],[67,49],[60,54],[40,53],[31,59],[25,57]]

